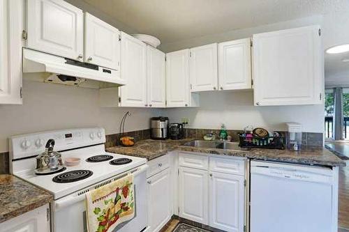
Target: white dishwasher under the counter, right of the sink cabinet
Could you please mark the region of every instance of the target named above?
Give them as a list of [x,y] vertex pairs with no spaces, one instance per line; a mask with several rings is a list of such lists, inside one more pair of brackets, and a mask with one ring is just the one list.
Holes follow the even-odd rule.
[[330,168],[251,161],[250,232],[336,231],[336,181]]

